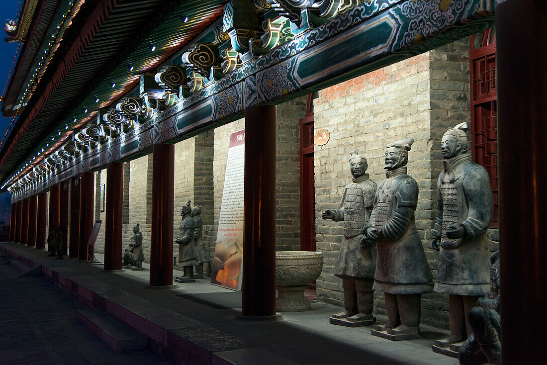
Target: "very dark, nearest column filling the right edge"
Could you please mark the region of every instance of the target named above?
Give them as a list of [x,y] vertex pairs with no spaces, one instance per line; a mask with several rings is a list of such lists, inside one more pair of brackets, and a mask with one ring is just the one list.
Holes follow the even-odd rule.
[[496,6],[504,364],[547,358],[546,5],[508,0]]

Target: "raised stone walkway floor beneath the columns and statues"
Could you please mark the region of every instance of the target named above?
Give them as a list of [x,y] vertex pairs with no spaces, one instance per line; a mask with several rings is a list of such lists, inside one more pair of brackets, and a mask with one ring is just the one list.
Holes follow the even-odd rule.
[[[147,290],[149,271],[146,269],[104,273],[101,265],[86,265],[75,259],[55,260],[46,257],[45,251],[21,245],[0,245],[0,250],[4,247],[42,264],[45,277],[84,303],[108,312],[147,335],[154,350],[170,352],[172,362],[212,365],[457,363],[455,358],[432,352],[433,340],[447,333],[432,327],[422,326],[423,339],[389,341],[371,335],[370,327],[330,325],[329,316],[340,309],[325,303],[313,303],[312,310],[307,312],[283,313],[280,322],[249,323],[238,319],[240,309],[216,309],[181,297],[188,293],[229,292],[211,285],[208,278],[178,284],[172,289]],[[181,272],[174,271],[174,275]],[[45,282],[46,287],[53,289],[43,277],[31,279]],[[35,295],[32,287],[30,283],[22,289],[24,296]],[[64,295],[55,289],[55,296],[61,294]],[[16,303],[16,296],[8,302],[9,305]],[[79,303],[74,305],[83,308]],[[23,304],[22,308],[29,305]],[[55,306],[50,307],[49,311],[52,310]],[[44,318],[49,311],[35,317]],[[378,317],[379,323],[385,321],[385,317]],[[59,323],[57,331],[68,331],[64,329],[67,325]],[[85,332],[81,328],[73,331],[74,338],[82,337]],[[103,347],[103,351],[108,348]],[[143,362],[143,359],[136,361]]]

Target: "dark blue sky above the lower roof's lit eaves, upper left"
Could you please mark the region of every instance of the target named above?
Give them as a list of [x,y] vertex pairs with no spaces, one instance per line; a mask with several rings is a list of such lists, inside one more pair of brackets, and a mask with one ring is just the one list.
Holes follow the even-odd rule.
[[[19,46],[19,42],[6,43],[4,42],[4,21],[6,19],[15,19],[17,14],[17,7],[19,1],[17,0],[0,0],[2,5],[2,11],[0,14],[0,20],[2,22],[2,39],[0,39],[0,92],[4,91],[5,83],[9,79],[9,70],[13,64],[13,59]],[[22,1],[21,1],[22,3]],[[8,129],[9,123],[12,118],[0,118],[0,141],[4,138],[5,131]]]

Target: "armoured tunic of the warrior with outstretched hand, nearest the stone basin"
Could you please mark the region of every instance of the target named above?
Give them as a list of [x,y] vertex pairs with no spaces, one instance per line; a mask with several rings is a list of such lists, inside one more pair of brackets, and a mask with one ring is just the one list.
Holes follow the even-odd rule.
[[373,279],[376,269],[376,247],[361,245],[363,227],[370,218],[376,183],[368,173],[353,178],[346,185],[340,209],[333,210],[333,221],[344,221],[344,236],[334,275],[342,279]]

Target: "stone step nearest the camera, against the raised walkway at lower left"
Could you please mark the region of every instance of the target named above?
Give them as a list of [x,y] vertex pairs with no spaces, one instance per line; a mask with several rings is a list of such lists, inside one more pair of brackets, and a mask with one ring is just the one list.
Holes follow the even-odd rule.
[[79,310],[78,320],[118,354],[148,347],[147,337],[101,310]]

